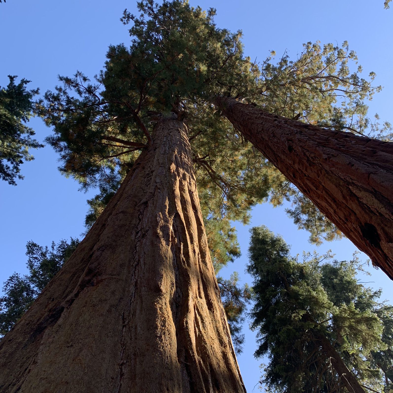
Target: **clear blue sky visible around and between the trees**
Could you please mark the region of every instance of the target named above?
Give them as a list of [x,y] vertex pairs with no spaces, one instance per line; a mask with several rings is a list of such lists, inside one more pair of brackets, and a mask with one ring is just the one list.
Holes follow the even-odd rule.
[[[31,87],[41,92],[53,88],[57,75],[72,75],[80,70],[93,75],[101,69],[109,44],[129,42],[127,28],[120,22],[123,9],[135,10],[136,2],[114,0],[7,0],[0,5],[1,62],[0,85],[7,84],[7,75],[30,79]],[[393,8],[383,9],[383,0],[191,0],[191,5],[217,8],[217,26],[232,31],[242,29],[245,54],[262,61],[270,50],[277,56],[288,50],[296,57],[303,42],[349,42],[356,50],[364,74],[377,74],[375,84],[384,90],[370,103],[370,114],[378,112],[381,119],[392,121]],[[43,140],[50,133],[39,119],[31,121],[37,138]],[[36,160],[25,163],[25,180],[17,187],[0,183],[0,283],[13,272],[26,272],[26,242],[50,244],[84,231],[86,198],[94,195],[78,192],[72,179],[57,171],[57,156],[50,147],[34,152]],[[283,235],[292,244],[294,254],[312,251],[308,234],[298,231],[285,215],[283,208],[257,206],[253,210],[252,225],[265,224]],[[247,262],[249,227],[237,225],[242,257],[224,274],[237,270],[243,282],[250,283],[244,274]],[[348,240],[323,244],[319,253],[332,249],[337,259],[349,259],[355,247]],[[363,255],[363,258],[366,257]],[[364,281],[382,286],[384,298],[393,300],[392,282],[373,268]],[[255,338],[246,331],[244,353],[238,357],[248,392],[252,392],[261,372],[261,360],[253,358]],[[257,386],[255,387],[257,391]]]

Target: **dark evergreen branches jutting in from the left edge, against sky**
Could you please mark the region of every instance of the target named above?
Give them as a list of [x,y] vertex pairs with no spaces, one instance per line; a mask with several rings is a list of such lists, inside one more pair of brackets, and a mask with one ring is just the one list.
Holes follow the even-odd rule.
[[21,79],[16,84],[16,76],[8,77],[7,87],[0,86],[0,179],[16,185],[16,179],[23,179],[20,165],[34,159],[29,148],[43,145],[31,138],[35,132],[26,126],[33,109],[32,98],[38,89],[27,90],[30,81]]

